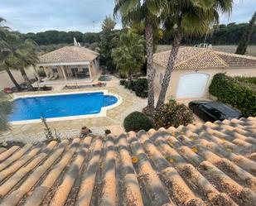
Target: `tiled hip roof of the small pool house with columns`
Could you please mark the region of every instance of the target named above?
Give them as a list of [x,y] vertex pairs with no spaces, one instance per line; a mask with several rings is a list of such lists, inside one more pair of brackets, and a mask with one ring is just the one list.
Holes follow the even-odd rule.
[[94,60],[99,54],[80,46],[65,46],[39,56],[40,63],[81,62]]

